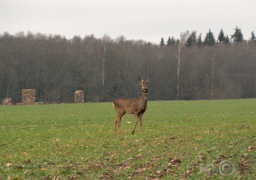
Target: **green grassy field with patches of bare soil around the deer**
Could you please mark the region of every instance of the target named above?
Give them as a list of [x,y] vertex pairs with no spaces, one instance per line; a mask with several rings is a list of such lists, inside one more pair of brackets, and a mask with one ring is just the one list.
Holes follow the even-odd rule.
[[0,106],[0,179],[256,179],[256,99],[150,101],[143,135],[133,114],[114,134],[116,115],[112,103]]

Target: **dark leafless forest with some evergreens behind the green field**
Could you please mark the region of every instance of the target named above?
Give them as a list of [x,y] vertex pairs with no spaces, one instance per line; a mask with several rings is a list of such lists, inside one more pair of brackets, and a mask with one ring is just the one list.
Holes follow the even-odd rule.
[[256,98],[255,36],[244,40],[237,29],[222,41],[221,32],[216,40],[209,30],[202,40],[187,31],[159,45],[124,36],[4,32],[0,100],[21,102],[21,89],[36,89],[37,102],[72,103],[76,90],[84,91],[84,102],[110,102],[140,96],[139,78],[151,79],[149,100]]

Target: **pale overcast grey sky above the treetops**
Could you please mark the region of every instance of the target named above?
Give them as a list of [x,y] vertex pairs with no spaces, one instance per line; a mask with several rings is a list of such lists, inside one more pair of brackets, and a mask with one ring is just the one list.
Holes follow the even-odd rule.
[[217,39],[241,28],[245,39],[256,32],[256,0],[1,0],[0,34],[19,31],[67,38],[124,35],[159,43],[181,32],[212,30]]

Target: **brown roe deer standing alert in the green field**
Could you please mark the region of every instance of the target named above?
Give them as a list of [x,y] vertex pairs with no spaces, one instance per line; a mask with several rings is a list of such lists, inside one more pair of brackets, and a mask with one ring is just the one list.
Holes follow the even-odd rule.
[[136,98],[117,98],[113,101],[113,108],[116,108],[116,111],[118,113],[117,117],[115,118],[115,134],[116,134],[116,124],[118,124],[118,127],[120,129],[120,132],[124,134],[122,128],[121,128],[121,118],[125,113],[134,114],[135,115],[135,126],[132,130],[132,133],[134,133],[136,125],[138,123],[138,118],[140,120],[140,130],[141,134],[143,134],[142,129],[142,115],[147,109],[147,101],[148,101],[148,84],[150,82],[150,79],[146,81],[145,83],[141,78],[139,78],[139,83],[141,84],[141,90],[142,95],[140,97]]

